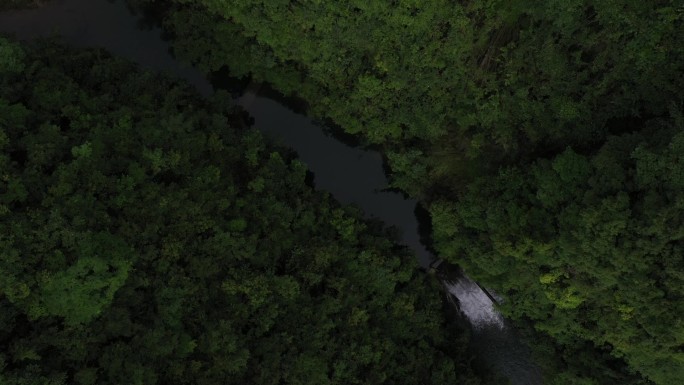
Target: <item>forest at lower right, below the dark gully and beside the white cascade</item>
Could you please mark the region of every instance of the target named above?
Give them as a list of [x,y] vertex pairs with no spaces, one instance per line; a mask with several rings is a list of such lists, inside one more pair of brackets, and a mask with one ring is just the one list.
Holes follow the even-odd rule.
[[438,250],[503,294],[506,314],[658,384],[684,378],[684,119],[671,114],[431,208]]

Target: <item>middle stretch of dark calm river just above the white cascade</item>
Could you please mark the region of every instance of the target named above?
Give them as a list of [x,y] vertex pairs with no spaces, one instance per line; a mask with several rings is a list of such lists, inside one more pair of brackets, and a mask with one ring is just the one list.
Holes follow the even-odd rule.
[[262,89],[258,93],[248,91],[238,101],[254,117],[255,126],[297,151],[300,160],[315,174],[317,189],[330,192],[342,203],[360,207],[367,218],[396,227],[400,240],[418,254],[421,266],[426,268],[434,257],[420,242],[414,215],[417,202],[384,190],[388,182],[380,153],[338,141],[311,119],[263,96]]

